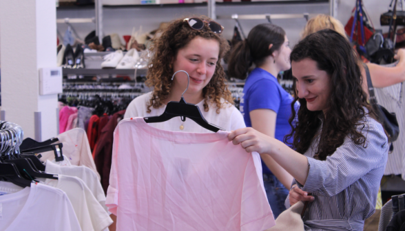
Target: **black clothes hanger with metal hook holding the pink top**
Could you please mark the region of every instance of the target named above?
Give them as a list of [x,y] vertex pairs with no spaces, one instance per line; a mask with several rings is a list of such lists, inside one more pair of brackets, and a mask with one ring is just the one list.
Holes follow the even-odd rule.
[[[185,72],[185,71],[178,71],[178,72]],[[175,72],[173,74],[172,80],[178,72]],[[183,95],[189,88],[189,83],[190,83],[189,74],[187,72],[185,72],[185,74],[187,74],[188,83],[187,83],[187,88],[185,89],[183,94],[181,94],[180,101],[179,102],[176,102],[176,101],[168,102],[166,109],[165,109],[165,111],[163,111],[162,115],[144,117],[143,120],[145,120],[145,122],[147,122],[147,123],[165,122],[174,117],[180,116],[181,120],[183,122],[185,121],[186,117],[190,118],[191,120],[194,120],[194,122],[196,122],[200,126],[203,126],[203,128],[208,129],[209,131],[217,132],[219,130],[225,130],[225,129],[221,129],[219,126],[216,126],[214,124],[210,124],[209,122],[207,122],[207,120],[205,120],[205,118],[203,117],[203,114],[201,114],[200,108],[197,105],[185,102]]]

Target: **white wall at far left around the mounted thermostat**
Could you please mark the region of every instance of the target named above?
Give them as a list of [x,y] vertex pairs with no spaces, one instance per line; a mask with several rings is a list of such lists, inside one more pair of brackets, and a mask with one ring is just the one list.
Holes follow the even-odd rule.
[[[0,1],[1,110],[24,137],[56,135],[57,95],[39,96],[39,68],[56,66],[54,0]],[[35,137],[34,112],[41,112]]]

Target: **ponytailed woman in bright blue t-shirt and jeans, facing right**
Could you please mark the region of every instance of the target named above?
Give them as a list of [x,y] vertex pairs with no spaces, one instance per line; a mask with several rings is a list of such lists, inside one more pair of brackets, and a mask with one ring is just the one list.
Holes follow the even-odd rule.
[[[256,25],[245,41],[232,50],[228,72],[230,76],[245,79],[240,111],[247,126],[283,140],[291,130],[289,118],[293,97],[277,80],[279,72],[291,68],[291,49],[284,30],[277,25]],[[247,76],[248,69],[255,65]],[[298,107],[298,105],[297,105]],[[261,155],[264,189],[274,217],[285,210],[284,201],[289,195],[293,177],[271,159]]]

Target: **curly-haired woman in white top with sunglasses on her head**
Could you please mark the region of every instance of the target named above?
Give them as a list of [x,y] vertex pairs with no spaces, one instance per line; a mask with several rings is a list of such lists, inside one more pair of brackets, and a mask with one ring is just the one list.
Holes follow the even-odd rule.
[[[127,107],[125,118],[160,115],[167,102],[179,101],[184,94],[186,102],[200,107],[204,118],[227,131],[245,127],[242,114],[233,106],[231,92],[225,85],[225,72],[220,59],[229,50],[222,38],[221,25],[207,17],[177,19],[169,24],[152,46],[152,65],[147,72],[146,84],[154,90],[135,98]],[[167,122],[151,123],[169,131],[209,132],[192,120],[180,117]]]

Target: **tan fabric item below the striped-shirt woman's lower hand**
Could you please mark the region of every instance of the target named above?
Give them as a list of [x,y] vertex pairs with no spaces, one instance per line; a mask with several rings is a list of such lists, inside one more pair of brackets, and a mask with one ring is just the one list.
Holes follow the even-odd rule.
[[307,203],[308,201],[305,203],[298,201],[277,217],[276,225],[265,231],[304,231],[304,221],[302,221],[302,217],[307,208]]

